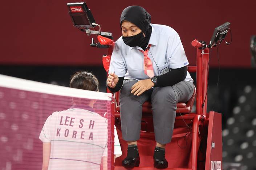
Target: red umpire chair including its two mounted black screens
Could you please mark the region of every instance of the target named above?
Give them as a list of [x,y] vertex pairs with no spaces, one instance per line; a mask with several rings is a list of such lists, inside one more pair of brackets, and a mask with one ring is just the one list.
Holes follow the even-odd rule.
[[[102,56],[103,67],[109,70],[111,54],[115,42],[111,33],[101,31],[96,24],[90,9],[86,3],[68,3],[69,14],[73,25],[86,34],[98,35],[99,43],[92,39],[90,46],[107,48],[107,55]],[[196,47],[196,66],[189,66],[188,72],[196,73],[196,90],[191,99],[186,103],[177,103],[176,119],[171,143],[166,146],[166,159],[171,170],[221,170],[222,169],[222,117],[221,114],[210,111],[207,113],[207,89],[209,48],[217,46],[217,42],[225,38],[229,22],[216,27],[210,43],[204,41],[192,41]],[[89,28],[99,26],[99,31]],[[219,44],[220,44],[219,43]],[[226,42],[227,43],[227,42]],[[228,44],[228,43],[227,43]],[[110,92],[107,89],[107,92]],[[111,169],[122,170],[121,161],[126,155],[127,143],[122,139],[120,125],[119,92],[113,94],[111,112],[111,130],[114,137],[114,124],[117,127],[118,138],[121,144],[123,156],[118,157],[114,165],[114,152],[112,148]],[[191,112],[196,101],[195,112]],[[154,127],[150,101],[143,104],[142,126],[138,148],[140,150],[141,163],[134,169],[154,169],[152,153],[154,152]],[[110,138],[109,138],[110,139]],[[112,143],[112,146],[114,143]],[[143,147],[142,147],[143,146]],[[151,162],[152,161],[152,162]]]

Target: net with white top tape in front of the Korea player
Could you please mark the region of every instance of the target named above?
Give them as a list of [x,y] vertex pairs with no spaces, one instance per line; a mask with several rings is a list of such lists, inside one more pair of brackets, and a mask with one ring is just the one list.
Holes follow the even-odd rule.
[[0,80],[0,170],[41,170],[42,141],[51,143],[49,169],[102,169],[104,156],[111,168],[110,94]]

